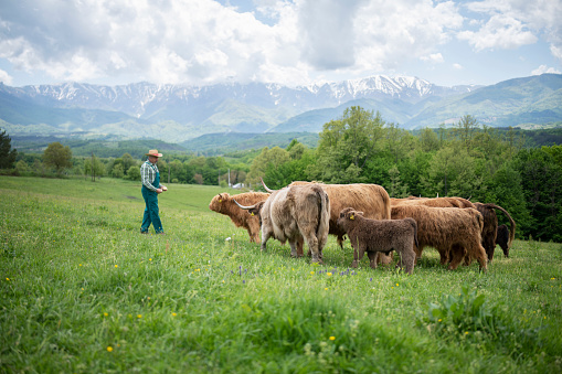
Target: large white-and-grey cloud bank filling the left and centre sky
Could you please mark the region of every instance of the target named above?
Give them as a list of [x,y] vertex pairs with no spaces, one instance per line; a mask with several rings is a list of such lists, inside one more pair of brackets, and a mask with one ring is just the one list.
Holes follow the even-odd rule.
[[254,13],[212,0],[8,1],[0,3],[0,57],[66,81],[298,84],[312,72],[436,62],[436,46],[462,22],[452,1],[430,0],[265,0]]

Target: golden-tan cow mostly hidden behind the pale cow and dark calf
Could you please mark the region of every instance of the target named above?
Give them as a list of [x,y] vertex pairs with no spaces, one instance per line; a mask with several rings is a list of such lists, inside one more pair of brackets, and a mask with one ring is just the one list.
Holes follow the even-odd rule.
[[[268,189],[264,181],[262,184],[267,192]],[[346,231],[338,226],[339,214],[344,207],[353,207],[357,211],[364,212],[367,218],[390,220],[390,196],[386,190],[378,184],[325,184],[317,182],[297,181],[291,185],[319,185],[326,191],[330,199],[330,234],[336,235],[338,244],[343,248],[343,235]],[[390,264],[391,256],[381,255],[379,261],[381,264]]]

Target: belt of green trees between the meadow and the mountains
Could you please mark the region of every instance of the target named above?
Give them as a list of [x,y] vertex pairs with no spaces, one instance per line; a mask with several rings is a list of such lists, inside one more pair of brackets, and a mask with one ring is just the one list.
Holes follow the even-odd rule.
[[[9,143],[6,132],[2,143]],[[4,147],[6,148],[6,147]],[[149,147],[155,148],[155,147]],[[147,151],[148,149],[147,148]],[[3,152],[3,150],[2,150]],[[2,173],[140,180],[141,159],[72,156],[52,142],[43,153],[14,156]],[[146,159],[146,158],[145,158]],[[562,242],[562,146],[530,147],[526,132],[484,126],[464,116],[450,127],[412,132],[386,122],[379,113],[349,107],[324,125],[318,146],[294,139],[287,147],[238,150],[203,157],[170,151],[159,161],[168,183],[272,189],[296,180],[375,183],[392,197],[462,196],[495,203],[517,223],[517,236]],[[500,223],[507,223],[501,213]]]

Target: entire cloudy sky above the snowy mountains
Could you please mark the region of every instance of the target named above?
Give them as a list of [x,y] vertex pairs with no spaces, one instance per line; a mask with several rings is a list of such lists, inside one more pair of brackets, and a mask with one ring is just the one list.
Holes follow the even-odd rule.
[[444,86],[562,72],[562,0],[1,0],[0,82]]

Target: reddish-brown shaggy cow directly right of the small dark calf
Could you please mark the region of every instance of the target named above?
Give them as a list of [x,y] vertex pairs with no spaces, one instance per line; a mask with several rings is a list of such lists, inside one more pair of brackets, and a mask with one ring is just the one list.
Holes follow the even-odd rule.
[[421,257],[423,248],[434,247],[441,255],[441,263],[450,260],[449,270],[458,267],[466,258],[469,264],[477,259],[480,270],[487,269],[486,252],[481,245],[484,218],[473,207],[432,207],[424,205],[392,206],[392,218],[412,217],[417,223],[417,241],[420,246],[414,248]]

